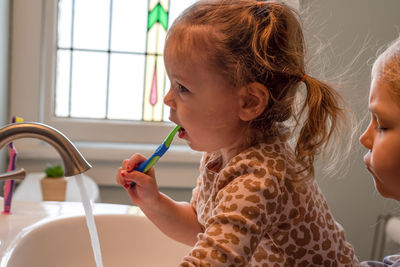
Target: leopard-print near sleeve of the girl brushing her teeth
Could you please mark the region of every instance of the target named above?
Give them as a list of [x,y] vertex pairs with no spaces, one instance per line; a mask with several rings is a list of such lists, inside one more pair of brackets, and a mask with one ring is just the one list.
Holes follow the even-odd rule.
[[218,192],[213,215],[181,266],[244,266],[250,260],[270,225],[266,195],[279,190],[276,179],[255,173],[257,168]]

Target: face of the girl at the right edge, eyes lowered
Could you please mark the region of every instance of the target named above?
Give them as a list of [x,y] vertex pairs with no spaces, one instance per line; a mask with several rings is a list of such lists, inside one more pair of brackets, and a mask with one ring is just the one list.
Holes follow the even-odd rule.
[[360,142],[369,149],[364,162],[374,177],[376,189],[382,196],[400,201],[400,105],[388,88],[390,84],[379,77],[372,80],[371,122]]

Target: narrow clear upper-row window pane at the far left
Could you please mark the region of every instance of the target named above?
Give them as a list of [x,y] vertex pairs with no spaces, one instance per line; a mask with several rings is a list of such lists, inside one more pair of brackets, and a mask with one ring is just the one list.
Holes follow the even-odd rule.
[[72,1],[58,2],[58,46],[71,47]]

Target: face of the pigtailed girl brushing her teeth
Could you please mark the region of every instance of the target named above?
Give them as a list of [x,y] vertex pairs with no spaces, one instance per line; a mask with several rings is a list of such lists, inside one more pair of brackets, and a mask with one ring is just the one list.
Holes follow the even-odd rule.
[[238,90],[210,64],[180,60],[182,56],[171,43],[167,42],[164,52],[171,82],[164,103],[171,109],[170,120],[184,128],[179,137],[197,151],[234,148],[242,142],[244,131],[239,118]]

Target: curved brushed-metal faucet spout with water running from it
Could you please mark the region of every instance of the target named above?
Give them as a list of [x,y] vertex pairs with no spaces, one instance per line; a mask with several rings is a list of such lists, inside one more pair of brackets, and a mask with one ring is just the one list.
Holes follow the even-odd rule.
[[12,123],[0,128],[0,149],[15,139],[25,137],[41,139],[52,145],[63,160],[65,176],[74,176],[92,168],[63,133],[42,123]]

